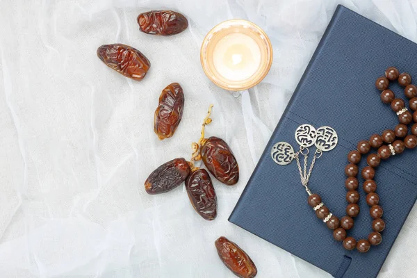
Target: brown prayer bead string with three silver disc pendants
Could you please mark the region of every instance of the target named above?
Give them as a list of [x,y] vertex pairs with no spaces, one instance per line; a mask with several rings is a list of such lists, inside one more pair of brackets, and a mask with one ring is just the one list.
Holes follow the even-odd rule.
[[[390,81],[398,81],[404,87],[404,95],[409,99],[409,107],[411,111],[414,111],[413,113],[405,107],[404,100],[395,98],[394,92],[389,90]],[[380,95],[382,102],[391,104],[391,109],[398,115],[400,123],[395,126],[395,130],[387,129],[382,132],[382,135],[373,134],[369,140],[359,141],[357,149],[347,154],[347,161],[350,163],[345,167],[347,176],[345,187],[348,190],[346,194],[347,215],[340,220],[336,215],[330,213],[329,208],[322,202],[320,195],[311,193],[308,187],[316,159],[322,156],[322,152],[328,152],[336,147],[338,141],[336,131],[330,126],[321,126],[316,130],[310,124],[302,124],[295,131],[295,140],[300,145],[300,150],[297,153],[287,142],[277,142],[271,150],[272,160],[278,165],[288,165],[295,158],[302,186],[309,194],[308,204],[316,212],[316,216],[325,222],[329,229],[332,229],[335,240],[343,241],[343,247],[346,250],[357,249],[359,252],[368,252],[371,245],[379,245],[382,242],[380,232],[385,229],[385,222],[382,220],[384,211],[379,206],[379,195],[375,193],[377,189],[374,180],[375,168],[383,160],[401,154],[406,148],[414,149],[417,147],[417,86],[411,84],[411,76],[405,72],[400,74],[395,67],[389,67],[385,71],[385,76],[379,77],[375,85],[378,90],[382,91]],[[409,127],[409,124],[412,126]],[[411,131],[411,134],[409,134],[409,131]],[[317,149],[307,171],[308,147],[312,145],[316,145]],[[377,149],[377,152],[368,154],[371,148]],[[306,149],[305,154],[304,149]],[[304,156],[303,167],[300,163],[300,154]],[[371,225],[373,231],[370,232],[368,238],[357,241],[352,236],[347,236],[347,230],[352,229],[354,226],[353,218],[357,217],[360,211],[357,204],[359,201],[357,175],[359,174],[358,164],[365,155],[367,155],[366,162],[368,166],[363,167],[361,176],[365,180],[363,191],[368,194],[366,203],[370,206],[369,213],[374,219]]]

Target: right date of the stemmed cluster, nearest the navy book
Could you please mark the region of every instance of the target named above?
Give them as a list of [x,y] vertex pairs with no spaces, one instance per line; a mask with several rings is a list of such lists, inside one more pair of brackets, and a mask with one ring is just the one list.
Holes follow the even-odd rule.
[[212,136],[202,146],[201,154],[204,165],[216,179],[228,186],[238,182],[238,162],[226,142]]

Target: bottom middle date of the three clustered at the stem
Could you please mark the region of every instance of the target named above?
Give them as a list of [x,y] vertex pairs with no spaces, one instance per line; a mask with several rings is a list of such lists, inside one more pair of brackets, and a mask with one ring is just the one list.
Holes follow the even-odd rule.
[[186,179],[186,190],[195,211],[205,220],[217,215],[217,198],[211,178],[205,169],[195,170]]

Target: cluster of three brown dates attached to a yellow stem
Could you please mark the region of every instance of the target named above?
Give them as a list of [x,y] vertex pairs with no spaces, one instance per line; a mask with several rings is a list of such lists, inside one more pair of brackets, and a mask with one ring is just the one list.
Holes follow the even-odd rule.
[[[168,161],[156,168],[145,181],[145,190],[149,194],[166,193],[185,181],[191,204],[205,220],[213,220],[216,217],[217,198],[210,175],[205,169],[196,167],[195,161],[202,160],[208,171],[228,186],[236,184],[239,180],[238,163],[229,145],[218,137],[204,138],[205,126],[211,123],[211,108],[213,105],[208,108],[202,124],[201,138],[192,144],[193,155],[190,161],[184,158]],[[166,130],[172,129],[175,127],[167,124]]]

